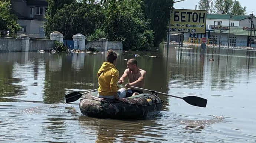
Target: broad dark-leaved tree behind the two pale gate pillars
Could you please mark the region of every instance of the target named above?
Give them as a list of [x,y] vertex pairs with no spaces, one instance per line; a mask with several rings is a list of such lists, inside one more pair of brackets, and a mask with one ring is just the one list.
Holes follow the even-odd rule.
[[[53,1],[52,1],[53,2]],[[46,14],[46,35],[49,37],[52,31],[59,31],[65,39],[72,39],[72,36],[81,33],[85,36],[91,35],[95,29],[99,28],[104,20],[104,14],[101,13],[101,6],[95,1],[73,1],[72,3],[58,5],[53,7],[49,3],[49,11]],[[70,1],[69,1],[70,2]],[[56,10],[56,11],[55,11]],[[55,14],[52,15],[52,11]]]

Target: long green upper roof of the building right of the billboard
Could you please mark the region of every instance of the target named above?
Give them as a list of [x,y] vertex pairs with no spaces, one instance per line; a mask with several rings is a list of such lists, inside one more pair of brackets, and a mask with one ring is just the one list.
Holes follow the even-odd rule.
[[207,19],[222,19],[229,20],[229,16],[232,16],[230,20],[244,20],[250,16],[243,15],[229,15],[229,14],[207,14]]

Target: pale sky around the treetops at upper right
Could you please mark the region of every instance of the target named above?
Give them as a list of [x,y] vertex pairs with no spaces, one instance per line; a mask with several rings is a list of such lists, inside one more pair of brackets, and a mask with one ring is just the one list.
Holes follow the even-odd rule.
[[[178,1],[178,0],[174,0],[174,1]],[[198,1],[199,0],[186,0],[186,1],[181,1],[178,3],[174,3],[174,8],[177,9],[195,9],[196,5],[198,8]],[[238,0],[240,2],[240,5],[242,5],[243,7],[246,6],[246,14],[256,14],[256,0]],[[252,4],[253,3],[253,4]]]

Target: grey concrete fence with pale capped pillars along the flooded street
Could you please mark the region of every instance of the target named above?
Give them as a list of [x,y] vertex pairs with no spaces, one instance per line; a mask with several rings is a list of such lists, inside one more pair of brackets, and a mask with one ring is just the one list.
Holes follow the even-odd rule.
[[[25,34],[20,34],[17,38],[0,37],[0,52],[32,52],[37,50],[48,51],[49,48],[54,48],[54,41],[63,42],[63,35],[58,31],[50,34],[48,39],[30,39]],[[99,41],[87,41],[82,34],[73,35],[74,49],[84,51],[89,48],[95,48],[99,51],[109,49],[123,50],[122,42],[108,41],[106,38],[100,38]],[[65,44],[65,43],[64,43]]]

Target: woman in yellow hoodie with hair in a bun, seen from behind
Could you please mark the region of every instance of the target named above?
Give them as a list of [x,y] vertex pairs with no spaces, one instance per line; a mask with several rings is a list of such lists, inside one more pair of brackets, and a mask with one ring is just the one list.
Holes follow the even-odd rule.
[[98,71],[98,97],[107,99],[125,98],[126,89],[118,90],[117,82],[119,79],[119,71],[115,68],[117,55],[112,50],[107,52],[107,61],[103,62]]

